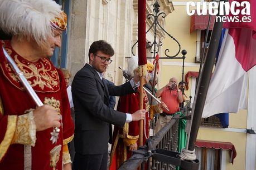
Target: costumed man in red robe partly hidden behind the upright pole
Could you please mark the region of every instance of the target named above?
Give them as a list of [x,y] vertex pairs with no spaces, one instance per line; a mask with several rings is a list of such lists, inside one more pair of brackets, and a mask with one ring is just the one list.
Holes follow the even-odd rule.
[[[147,67],[150,68],[150,67]],[[128,62],[128,72],[131,76],[138,74],[138,57],[132,57]],[[149,73],[144,78],[144,84],[150,79]],[[149,138],[150,116],[149,108],[153,113],[162,113],[162,108],[166,107],[165,103],[149,106],[148,97],[143,91],[143,109],[147,110],[146,118],[143,120],[143,145]],[[136,93],[128,94],[119,98],[117,111],[124,113],[134,113],[139,109],[139,89]],[[123,128],[114,127],[112,151],[110,154],[110,170],[118,169],[124,161],[132,156],[132,151],[138,148],[139,138],[139,121],[125,123]]]

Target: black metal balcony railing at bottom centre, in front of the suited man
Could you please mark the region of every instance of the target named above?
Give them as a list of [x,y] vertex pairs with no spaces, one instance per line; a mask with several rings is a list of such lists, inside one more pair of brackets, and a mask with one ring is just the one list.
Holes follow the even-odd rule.
[[[154,153],[157,149],[167,149],[169,151],[177,151],[178,147],[178,118],[180,116],[173,116],[170,122],[166,124],[154,137],[147,140],[147,144],[140,147],[138,151],[134,152],[133,156],[119,169],[137,169],[143,162],[148,164],[147,169],[168,169],[172,167],[165,162],[157,161]],[[153,153],[153,156],[152,156]]]

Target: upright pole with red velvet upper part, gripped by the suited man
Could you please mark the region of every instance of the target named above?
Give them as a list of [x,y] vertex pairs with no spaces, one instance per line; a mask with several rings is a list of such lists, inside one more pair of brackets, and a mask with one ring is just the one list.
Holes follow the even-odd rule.
[[[147,71],[146,64],[146,0],[140,0],[138,1],[139,109],[143,109],[143,85]],[[143,146],[143,120],[139,121],[139,146]]]

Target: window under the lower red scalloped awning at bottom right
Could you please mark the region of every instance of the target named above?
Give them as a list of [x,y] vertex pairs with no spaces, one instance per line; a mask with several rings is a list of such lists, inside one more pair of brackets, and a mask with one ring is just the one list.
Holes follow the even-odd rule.
[[200,170],[219,170],[221,166],[221,149],[196,147],[196,157]]

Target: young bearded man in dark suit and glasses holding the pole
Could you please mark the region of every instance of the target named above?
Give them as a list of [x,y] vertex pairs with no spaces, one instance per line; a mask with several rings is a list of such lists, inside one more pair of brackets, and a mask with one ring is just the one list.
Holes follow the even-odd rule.
[[114,49],[105,41],[95,41],[89,49],[89,64],[76,73],[72,83],[75,108],[74,169],[107,169],[109,123],[123,127],[125,122],[145,118],[145,110],[133,114],[109,108],[110,96],[134,93],[138,75],[121,86],[107,84],[103,72],[112,62]]

